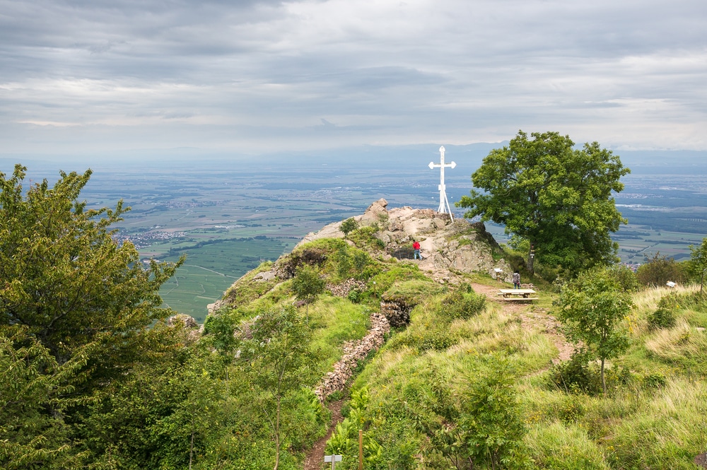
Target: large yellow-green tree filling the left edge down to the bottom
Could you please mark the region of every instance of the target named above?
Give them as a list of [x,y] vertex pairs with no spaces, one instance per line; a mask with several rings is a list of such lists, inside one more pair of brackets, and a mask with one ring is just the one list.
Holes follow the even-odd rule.
[[90,454],[87,406],[175,348],[158,290],[182,261],[146,265],[116,242],[128,209],[78,200],[90,170],[52,187],[23,187],[25,171],[0,173],[0,466],[69,468]]

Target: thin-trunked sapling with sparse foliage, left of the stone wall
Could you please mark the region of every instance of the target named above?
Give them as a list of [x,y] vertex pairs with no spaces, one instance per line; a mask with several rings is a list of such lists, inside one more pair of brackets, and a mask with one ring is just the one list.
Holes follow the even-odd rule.
[[282,404],[287,394],[305,383],[311,358],[310,332],[292,308],[262,312],[250,331],[252,337],[240,345],[240,360],[270,425],[277,470],[284,440]]

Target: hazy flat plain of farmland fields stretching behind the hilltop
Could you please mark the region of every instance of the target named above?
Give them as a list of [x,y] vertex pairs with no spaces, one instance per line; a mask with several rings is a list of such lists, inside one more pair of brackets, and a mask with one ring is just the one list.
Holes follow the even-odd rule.
[[[471,189],[469,176],[491,144],[448,146],[447,194],[454,204]],[[342,156],[343,155],[343,156]],[[688,245],[707,235],[707,158],[688,154],[684,166],[670,158],[621,154],[632,170],[617,195],[629,219],[614,235],[624,262],[642,263],[655,254],[689,257]],[[682,154],[681,154],[682,155]],[[131,240],[144,259],[187,261],[160,291],[165,305],[201,322],[206,305],[221,297],[235,279],[265,259],[289,252],[304,235],[327,223],[355,216],[373,201],[389,207],[437,208],[439,158],[436,146],[397,150],[364,149],[338,155],[224,160],[207,158],[101,163],[81,193],[88,206],[113,207],[119,199],[132,207],[117,223],[117,238]],[[336,163],[332,163],[332,162]],[[329,163],[327,163],[329,162]],[[13,160],[0,159],[11,172]],[[28,177],[56,180],[59,168],[86,170],[86,164],[23,162]],[[462,216],[455,209],[455,216]],[[487,224],[499,242],[503,227]]]

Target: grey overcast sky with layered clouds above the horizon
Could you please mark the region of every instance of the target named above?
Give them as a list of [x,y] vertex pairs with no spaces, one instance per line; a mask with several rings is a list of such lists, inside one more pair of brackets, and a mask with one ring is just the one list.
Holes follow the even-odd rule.
[[0,0],[0,153],[707,149],[705,0]]

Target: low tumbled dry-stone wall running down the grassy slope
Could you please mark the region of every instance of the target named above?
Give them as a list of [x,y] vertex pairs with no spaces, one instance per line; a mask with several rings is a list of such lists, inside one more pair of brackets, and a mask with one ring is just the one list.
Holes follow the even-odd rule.
[[390,331],[390,324],[383,315],[377,312],[370,314],[368,334],[363,339],[344,344],[344,355],[341,356],[341,360],[334,364],[332,372],[327,372],[322,383],[315,389],[317,398],[323,402],[327,396],[343,390],[358,363],[365,359],[370,351],[380,348],[388,331]]

